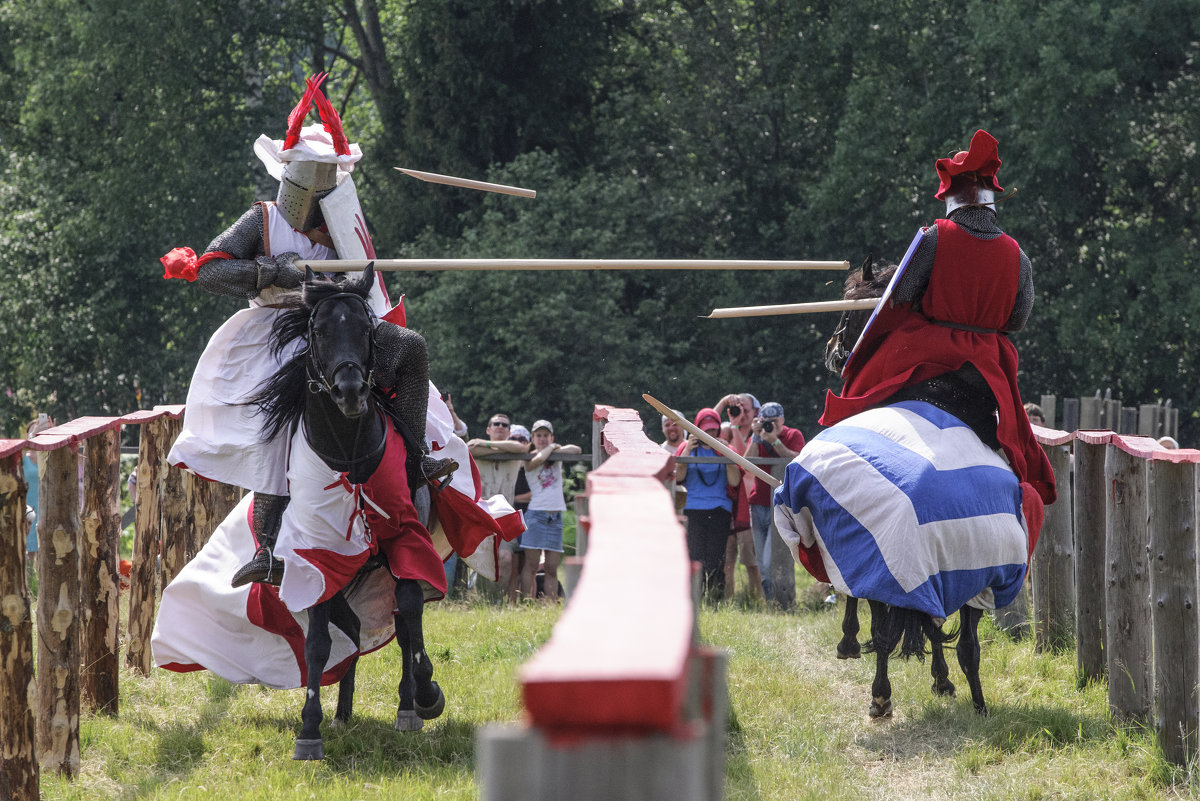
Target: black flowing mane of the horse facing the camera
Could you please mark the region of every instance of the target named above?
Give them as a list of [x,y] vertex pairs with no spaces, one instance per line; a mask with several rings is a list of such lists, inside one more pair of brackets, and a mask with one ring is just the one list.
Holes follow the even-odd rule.
[[289,344],[298,341],[304,342],[304,347],[242,402],[245,405],[258,406],[258,414],[263,415],[264,442],[274,439],[284,428],[290,428],[304,415],[308,386],[306,339],[313,309],[323,300],[343,293],[366,300],[371,294],[372,279],[373,276],[368,278],[366,273],[358,278],[338,281],[310,272],[300,289],[284,293],[276,300],[276,305],[283,311],[271,324],[271,353],[280,356]]

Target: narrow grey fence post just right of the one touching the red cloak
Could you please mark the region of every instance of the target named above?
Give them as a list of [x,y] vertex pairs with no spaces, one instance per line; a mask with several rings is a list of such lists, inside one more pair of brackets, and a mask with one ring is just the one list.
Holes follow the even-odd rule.
[[1080,681],[1104,675],[1104,540],[1106,502],[1100,441],[1075,439],[1075,669]]

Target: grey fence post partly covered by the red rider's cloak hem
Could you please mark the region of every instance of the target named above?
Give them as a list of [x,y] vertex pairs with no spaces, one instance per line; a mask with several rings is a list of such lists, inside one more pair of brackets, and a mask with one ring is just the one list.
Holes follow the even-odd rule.
[[1033,554],[1034,648],[1069,648],[1075,628],[1075,537],[1072,514],[1070,452],[1062,445],[1045,446],[1058,500],[1046,507],[1042,536]]

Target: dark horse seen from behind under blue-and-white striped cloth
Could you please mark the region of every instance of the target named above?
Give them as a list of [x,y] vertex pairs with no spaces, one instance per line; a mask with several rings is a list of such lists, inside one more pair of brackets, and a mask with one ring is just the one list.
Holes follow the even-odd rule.
[[[872,270],[870,257],[862,269],[851,272],[846,278],[844,297],[847,300],[864,297],[881,297],[887,289],[896,265],[886,265],[882,269]],[[858,341],[866,321],[869,311],[844,312],[838,323],[838,329],[826,344],[826,367],[835,374],[841,374],[850,356],[851,349]],[[935,380],[936,381],[936,380]],[[959,387],[961,389],[961,387]],[[922,399],[935,402],[935,405],[947,408],[947,396],[953,399],[964,397],[968,402],[978,403],[978,392],[962,393],[944,390],[944,381],[926,383],[901,391],[900,396],[893,396],[888,403],[902,399]],[[961,401],[960,401],[961,402]],[[952,404],[953,405],[953,404]],[[954,411],[953,408],[948,409]],[[960,414],[960,417],[968,417]],[[992,434],[994,436],[994,434]],[[889,717],[892,715],[892,682],[888,679],[888,660],[900,646],[900,657],[908,658],[916,656],[924,658],[926,648],[931,651],[931,675],[934,679],[931,689],[935,695],[954,697],[955,687],[949,679],[949,666],[946,661],[944,648],[955,640],[959,667],[966,676],[971,687],[971,699],[974,710],[980,715],[988,713],[988,705],[983,695],[983,685],[979,680],[979,619],[983,610],[973,606],[964,606],[959,609],[959,626],[952,632],[944,632],[929,614],[914,609],[889,606],[881,601],[869,601],[871,609],[871,638],[859,645],[858,632],[858,598],[846,596],[845,614],[842,616],[842,637],[838,643],[836,654],[839,660],[857,660],[865,650],[875,652],[875,679],[871,682],[871,705],[869,715],[874,718]]]

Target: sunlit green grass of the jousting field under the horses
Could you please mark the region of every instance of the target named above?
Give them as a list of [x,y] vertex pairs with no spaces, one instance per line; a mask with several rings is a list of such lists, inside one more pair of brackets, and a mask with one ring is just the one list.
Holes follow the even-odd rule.
[[[802,586],[802,601],[816,595]],[[895,716],[869,721],[874,660],[835,660],[840,612],[817,606],[785,614],[739,595],[701,613],[702,638],[730,654],[726,799],[1195,797],[1195,777],[1165,764],[1152,735],[1110,723],[1103,683],[1076,689],[1074,655],[1034,654],[986,619],[989,717],[973,712],[950,655],[959,698],[932,698],[928,663],[893,661]],[[360,663],[348,727],[329,728],[336,693],[326,688],[323,763],[290,759],[302,691],[125,673],[120,718],[84,718],[80,776],[43,776],[42,797],[475,799],[475,731],[521,718],[517,670],[558,615],[540,604],[431,604],[426,642],[445,715],[420,733],[392,729],[400,674],[389,646]]]

